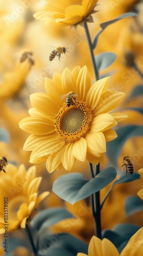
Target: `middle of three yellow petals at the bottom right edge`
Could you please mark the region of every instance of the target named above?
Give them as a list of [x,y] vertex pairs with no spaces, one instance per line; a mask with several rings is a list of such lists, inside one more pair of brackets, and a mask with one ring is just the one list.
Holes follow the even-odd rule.
[[102,251],[103,251],[103,256],[105,256],[105,255],[120,256],[120,254],[118,253],[118,250],[114,246],[114,244],[106,238],[104,238],[102,241]]

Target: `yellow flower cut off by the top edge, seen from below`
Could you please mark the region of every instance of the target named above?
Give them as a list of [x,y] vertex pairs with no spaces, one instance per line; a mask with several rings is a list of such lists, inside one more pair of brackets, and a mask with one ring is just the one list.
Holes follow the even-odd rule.
[[61,26],[76,25],[83,20],[90,20],[90,14],[96,6],[98,0],[80,1],[51,1],[47,5],[47,10],[34,14],[36,19],[45,23],[56,22]]

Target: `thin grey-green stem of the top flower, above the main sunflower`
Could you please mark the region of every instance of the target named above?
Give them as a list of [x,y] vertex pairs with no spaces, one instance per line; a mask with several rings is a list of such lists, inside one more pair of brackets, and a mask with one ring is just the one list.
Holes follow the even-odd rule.
[[88,41],[88,46],[89,46],[90,55],[91,55],[91,59],[92,59],[94,74],[95,74],[96,80],[98,80],[99,79],[99,72],[98,72],[97,65],[96,65],[96,60],[95,60],[95,57],[94,57],[94,54],[93,54],[93,46],[92,46],[92,42],[91,42],[91,38],[90,38],[90,34],[89,34],[89,30],[88,30],[86,22],[84,22],[84,28],[85,28],[85,32],[86,32],[86,36],[87,36],[87,41]]

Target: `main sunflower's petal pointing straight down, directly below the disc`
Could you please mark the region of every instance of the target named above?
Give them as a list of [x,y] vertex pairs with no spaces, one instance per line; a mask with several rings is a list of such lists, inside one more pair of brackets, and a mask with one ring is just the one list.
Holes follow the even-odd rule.
[[74,143],[68,143],[62,152],[62,164],[66,170],[71,170],[76,158],[73,154]]

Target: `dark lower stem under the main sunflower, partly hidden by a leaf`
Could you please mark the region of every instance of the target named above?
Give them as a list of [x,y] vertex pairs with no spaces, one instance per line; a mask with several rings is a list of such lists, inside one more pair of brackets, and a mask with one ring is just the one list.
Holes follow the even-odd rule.
[[[91,177],[94,178],[93,166],[91,163],[89,163],[89,165],[90,165]],[[100,172],[100,165],[98,164],[96,169],[96,175],[99,172]],[[94,218],[94,222],[96,224],[96,236],[101,239],[102,236],[101,236],[101,216],[100,216],[100,191],[91,195],[91,205],[92,205],[92,215]]]

